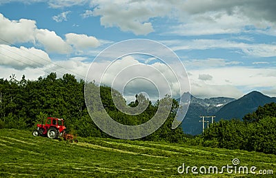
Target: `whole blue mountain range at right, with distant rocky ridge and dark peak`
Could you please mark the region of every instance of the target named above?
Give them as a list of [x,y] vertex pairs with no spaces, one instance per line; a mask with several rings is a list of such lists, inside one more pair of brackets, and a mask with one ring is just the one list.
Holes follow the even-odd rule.
[[[244,115],[257,110],[259,106],[272,102],[276,102],[276,97],[268,97],[258,91],[250,92],[239,99],[228,97],[199,99],[190,95],[190,106],[181,127],[186,134],[198,135],[202,132],[202,122],[199,122],[202,115],[215,115],[215,121],[242,119]],[[207,120],[211,122],[210,118]]]

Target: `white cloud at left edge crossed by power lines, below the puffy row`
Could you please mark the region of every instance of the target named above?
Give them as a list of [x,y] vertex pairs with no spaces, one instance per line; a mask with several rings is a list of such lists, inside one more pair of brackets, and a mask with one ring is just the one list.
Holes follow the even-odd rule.
[[20,48],[0,45],[0,65],[9,66],[17,70],[25,68],[41,68],[51,63],[46,52],[35,48]]

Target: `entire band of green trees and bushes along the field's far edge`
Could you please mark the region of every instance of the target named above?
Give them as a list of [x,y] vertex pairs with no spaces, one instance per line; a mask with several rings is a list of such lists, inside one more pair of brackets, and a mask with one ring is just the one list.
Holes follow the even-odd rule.
[[[55,73],[50,73],[44,78],[39,77],[37,80],[26,80],[24,75],[20,80],[14,75],[10,76],[9,80],[0,79],[0,128],[33,130],[37,123],[45,121],[46,117],[58,117],[65,119],[68,132],[80,137],[110,137],[102,132],[88,115],[83,95],[85,84],[85,81],[77,80],[74,75],[66,74],[62,78],[57,78]],[[105,110],[119,123],[145,123],[157,112],[159,101],[149,101],[148,108],[143,113],[135,116],[126,115],[112,102],[112,88],[97,86],[95,83],[92,85],[100,87]],[[137,99],[128,103],[130,107],[137,105]],[[170,115],[165,123],[157,131],[140,140],[276,154],[276,103],[259,106],[255,112],[245,115],[243,120],[221,119],[211,124],[203,134],[195,137],[184,134],[180,126],[175,130],[171,129],[177,107],[177,101],[172,99]]]

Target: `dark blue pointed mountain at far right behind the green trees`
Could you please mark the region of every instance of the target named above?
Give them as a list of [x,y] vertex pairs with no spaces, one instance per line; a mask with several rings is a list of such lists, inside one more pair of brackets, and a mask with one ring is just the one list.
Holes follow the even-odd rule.
[[257,110],[258,106],[276,102],[276,97],[268,97],[261,92],[253,91],[222,107],[217,113],[217,119],[242,119],[244,115]]

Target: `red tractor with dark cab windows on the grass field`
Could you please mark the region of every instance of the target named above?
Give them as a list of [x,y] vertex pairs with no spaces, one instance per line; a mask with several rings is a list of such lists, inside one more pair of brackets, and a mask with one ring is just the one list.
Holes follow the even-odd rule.
[[45,124],[37,124],[37,129],[32,132],[34,137],[39,135],[47,135],[50,139],[57,139],[65,132],[66,127],[63,126],[63,119],[48,117]]

